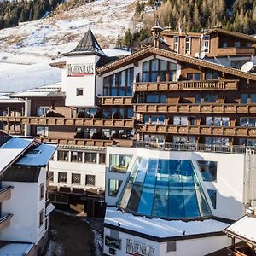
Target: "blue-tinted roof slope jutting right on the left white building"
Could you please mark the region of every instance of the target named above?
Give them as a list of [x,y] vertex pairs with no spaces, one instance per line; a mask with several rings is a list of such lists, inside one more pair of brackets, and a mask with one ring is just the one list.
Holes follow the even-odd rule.
[[38,148],[28,151],[16,164],[19,166],[47,166],[56,148],[57,145],[41,144]]

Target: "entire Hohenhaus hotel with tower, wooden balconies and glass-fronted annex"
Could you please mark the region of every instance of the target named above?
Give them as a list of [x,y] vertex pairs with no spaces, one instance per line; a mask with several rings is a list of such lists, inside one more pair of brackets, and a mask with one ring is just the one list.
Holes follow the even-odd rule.
[[0,97],[2,128],[58,144],[54,201],[98,216],[106,189],[105,254],[206,255],[254,206],[256,74],[237,67],[255,44],[154,26],[116,58],[89,30],[51,64],[60,84]]

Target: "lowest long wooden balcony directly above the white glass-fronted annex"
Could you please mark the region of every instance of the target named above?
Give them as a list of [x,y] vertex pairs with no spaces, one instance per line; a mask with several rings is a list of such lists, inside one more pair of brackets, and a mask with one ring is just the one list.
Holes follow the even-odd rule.
[[191,134],[205,136],[238,136],[256,137],[256,127],[224,127],[224,126],[194,126],[194,125],[137,125],[137,132]]

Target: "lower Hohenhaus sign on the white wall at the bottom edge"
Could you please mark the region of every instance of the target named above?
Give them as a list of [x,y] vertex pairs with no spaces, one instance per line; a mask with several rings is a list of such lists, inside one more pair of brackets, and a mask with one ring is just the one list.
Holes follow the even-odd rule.
[[126,239],[126,253],[140,256],[155,256],[155,247],[143,242]]

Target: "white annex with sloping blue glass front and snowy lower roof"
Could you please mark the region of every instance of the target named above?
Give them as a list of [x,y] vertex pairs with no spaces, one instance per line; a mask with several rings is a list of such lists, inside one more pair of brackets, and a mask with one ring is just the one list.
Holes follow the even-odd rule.
[[107,148],[104,255],[199,256],[229,246],[224,229],[255,203],[254,151],[153,146]]

